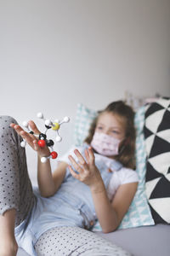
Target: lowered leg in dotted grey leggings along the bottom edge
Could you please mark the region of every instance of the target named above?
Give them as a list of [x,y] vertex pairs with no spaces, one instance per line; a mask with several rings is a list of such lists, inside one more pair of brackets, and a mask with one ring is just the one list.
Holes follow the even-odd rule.
[[60,227],[46,231],[38,239],[38,256],[130,256],[121,247],[78,227]]

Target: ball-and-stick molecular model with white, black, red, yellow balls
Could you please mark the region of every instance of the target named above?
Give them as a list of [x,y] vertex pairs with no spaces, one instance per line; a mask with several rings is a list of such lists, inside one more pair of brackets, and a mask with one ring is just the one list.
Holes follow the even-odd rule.
[[[36,135],[34,134],[33,131],[30,130],[29,128],[29,125],[28,125],[28,122],[23,122],[23,126],[26,127],[27,131],[31,134],[34,134],[35,136],[38,137],[38,145],[41,147],[41,148],[44,148],[46,145],[51,148],[51,153],[49,156],[45,157],[43,156],[41,158],[41,162],[42,163],[45,163],[48,159],[56,159],[58,154],[57,152],[54,151],[54,141],[47,138],[47,131],[49,129],[52,129],[54,130],[56,133],[57,133],[57,136],[55,138],[56,142],[61,142],[62,138],[59,136],[59,128],[60,128],[60,125],[62,125],[63,123],[68,123],[70,121],[69,117],[65,117],[62,121],[59,121],[58,119],[55,119],[54,122],[52,122],[50,119],[45,119],[44,116],[43,116],[43,113],[37,113],[37,118],[39,119],[43,119],[44,120],[44,125],[46,127],[46,130],[44,131],[44,133],[40,133],[39,135]],[[22,148],[25,148],[26,147],[26,140],[23,139],[23,141],[20,143],[20,146]]]

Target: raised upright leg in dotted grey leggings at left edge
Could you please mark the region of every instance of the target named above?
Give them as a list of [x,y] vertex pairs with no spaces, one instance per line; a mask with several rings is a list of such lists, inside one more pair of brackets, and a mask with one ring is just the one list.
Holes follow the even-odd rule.
[[21,137],[9,125],[16,121],[0,116],[0,214],[15,209],[15,226],[20,224],[34,203],[26,166],[26,150]]

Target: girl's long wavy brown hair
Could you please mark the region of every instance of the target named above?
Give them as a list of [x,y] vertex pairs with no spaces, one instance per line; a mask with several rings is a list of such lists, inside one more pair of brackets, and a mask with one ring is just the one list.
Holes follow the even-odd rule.
[[85,143],[90,144],[93,137],[94,137],[94,131],[99,119],[99,116],[101,113],[113,113],[117,116],[120,116],[122,119],[125,120],[126,125],[126,135],[125,139],[121,143],[119,147],[119,154],[115,156],[115,159],[122,163],[123,166],[127,168],[135,168],[135,157],[134,157],[134,151],[135,151],[135,138],[136,138],[136,132],[134,127],[134,112],[133,109],[128,106],[125,102],[117,101],[117,102],[111,102],[104,110],[99,111],[98,116],[94,119],[94,122],[90,126],[90,129],[88,131],[88,137],[84,140]]

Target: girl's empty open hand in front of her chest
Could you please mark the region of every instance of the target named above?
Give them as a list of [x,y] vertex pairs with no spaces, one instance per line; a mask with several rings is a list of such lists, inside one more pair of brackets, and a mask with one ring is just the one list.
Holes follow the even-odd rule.
[[78,174],[74,172],[71,166],[69,166],[71,175],[82,183],[87,184],[91,189],[99,187],[100,183],[103,183],[98,168],[94,164],[94,152],[92,148],[85,149],[86,160],[82,157],[82,154],[75,149],[74,153],[77,155],[77,161],[69,155],[72,166],[77,170]]

